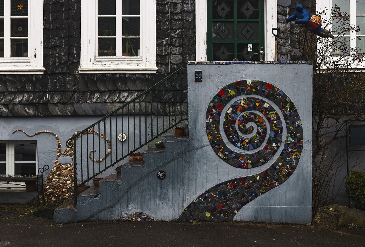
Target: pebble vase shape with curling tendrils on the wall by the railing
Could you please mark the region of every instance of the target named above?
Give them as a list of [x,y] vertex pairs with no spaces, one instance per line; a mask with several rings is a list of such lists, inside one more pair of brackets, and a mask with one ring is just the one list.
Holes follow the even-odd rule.
[[[61,140],[58,138],[58,135],[56,135],[52,131],[42,130],[34,133],[33,135],[28,135],[24,130],[15,130],[12,134],[14,134],[17,131],[23,132],[28,137],[32,137],[41,133],[49,133],[55,137],[57,142],[56,160],[54,162],[53,168],[50,171],[50,174],[47,176],[47,179],[43,183],[45,201],[61,202],[64,200],[73,199],[73,194],[74,194],[73,148],[67,147],[65,152],[62,152]],[[76,135],[79,132],[80,131],[75,132],[74,134]],[[101,162],[105,160],[110,155],[111,152],[110,140],[106,138],[104,134],[101,134],[93,130],[88,130],[82,133],[82,135],[85,134],[99,135],[101,138],[105,139],[105,141],[108,143],[108,151],[103,158],[101,158],[100,160],[99,159],[95,160],[91,157],[92,152],[95,152],[95,150],[89,152],[89,159],[91,159],[93,162]],[[68,164],[59,163],[58,158],[61,156],[71,157],[72,162]]]

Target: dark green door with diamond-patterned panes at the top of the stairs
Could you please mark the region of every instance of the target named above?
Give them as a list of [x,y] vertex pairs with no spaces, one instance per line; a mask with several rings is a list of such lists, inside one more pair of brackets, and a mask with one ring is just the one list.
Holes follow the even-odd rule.
[[[212,61],[212,60],[220,60],[220,59],[216,59],[217,56],[214,59],[214,55],[213,55],[213,47],[217,47],[217,45],[215,44],[227,44],[229,45],[231,48],[231,55],[233,54],[233,58],[238,58],[238,60],[248,60],[248,59],[242,59],[242,58],[247,58],[250,57],[249,60],[260,60],[260,47],[264,47],[264,40],[265,40],[265,2],[264,0],[226,0],[227,3],[230,3],[231,6],[233,4],[234,9],[230,11],[233,11],[233,18],[230,19],[224,19],[223,18],[213,18],[214,14],[213,14],[213,1],[220,3],[219,7],[221,7],[220,9],[220,13],[228,13],[227,10],[227,5],[223,5],[224,7],[222,8],[222,4],[224,3],[225,0],[207,0],[207,59],[208,61]],[[258,18],[255,19],[239,19],[238,18],[238,11],[242,11],[241,9],[237,9],[238,8],[238,3],[240,3],[242,5],[242,3],[246,3],[246,2],[258,2]],[[245,4],[243,4],[244,6],[247,6]],[[249,5],[252,7],[252,5]],[[217,6],[216,6],[217,7]],[[249,11],[249,9],[247,9]],[[216,10],[215,10],[216,11]],[[243,9],[243,11],[245,11],[245,9]],[[242,11],[242,12],[243,12]],[[241,17],[242,14],[240,13]],[[232,17],[232,15],[230,15]],[[217,17],[217,15],[215,15],[215,17]],[[218,16],[219,17],[219,16]],[[225,30],[228,30],[227,25],[230,25],[230,28],[232,29],[232,24],[233,24],[233,32],[234,35],[230,36],[230,40],[213,40],[213,32],[218,33],[218,29],[216,29],[216,31],[213,31],[213,25],[218,23],[218,25],[220,25],[220,27],[218,29],[220,29],[220,33],[223,33],[223,36],[226,35],[225,37],[227,37],[227,32],[224,33]],[[222,23],[222,24],[221,24]],[[224,23],[226,23],[226,26],[224,26]],[[241,30],[238,30],[238,25],[245,25],[245,23],[247,23],[248,25],[252,25],[254,24],[255,27],[258,27],[258,30],[253,30],[251,27],[249,27],[250,30],[247,30],[247,33],[252,33],[250,31],[253,30],[253,32],[258,32],[258,37],[255,37],[255,39],[245,39],[245,37],[247,37],[248,35],[245,36],[245,34],[243,32],[241,32]],[[258,23],[258,25],[257,25]],[[222,27],[223,25],[223,27]],[[241,26],[242,27],[242,26]],[[241,28],[240,27],[240,28]],[[245,26],[245,28],[247,27],[247,25]],[[225,30],[224,30],[225,29]],[[242,29],[243,30],[243,29]],[[223,32],[222,32],[223,31]],[[232,30],[230,30],[232,31]],[[241,33],[239,33],[241,32]],[[253,35],[251,35],[252,37]],[[216,35],[216,37],[218,37]],[[218,37],[219,39],[219,37]],[[224,39],[224,38],[221,38]],[[244,50],[242,50],[242,47],[244,47],[244,45],[241,44],[253,44],[254,46],[254,51],[253,52],[246,52]],[[225,51],[227,52],[227,49],[225,49]],[[242,53],[247,53],[246,55],[242,55]],[[253,54],[254,53],[254,54]],[[227,53],[225,53],[227,54]],[[240,59],[240,58],[241,59]],[[230,56],[230,58],[232,58],[232,56]]]

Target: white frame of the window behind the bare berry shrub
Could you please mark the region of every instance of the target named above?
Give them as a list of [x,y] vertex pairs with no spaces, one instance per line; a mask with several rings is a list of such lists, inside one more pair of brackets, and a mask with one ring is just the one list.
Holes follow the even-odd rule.
[[[330,15],[331,15],[332,0],[320,0],[320,1],[316,2],[317,11],[319,11],[320,9],[325,9],[325,8],[327,8],[327,12],[326,12],[326,14],[321,15],[322,20],[329,19]],[[356,23],[356,16],[365,16],[365,15],[356,14],[356,0],[350,0],[349,10],[350,10],[350,13],[349,13],[350,23],[353,23],[353,24]],[[355,13],[355,14],[353,14],[353,13]],[[326,28],[328,30],[331,29],[331,27],[330,27],[330,25],[328,25],[328,23],[325,23],[325,25],[327,27],[324,27],[322,25],[322,28]],[[365,35],[356,35],[355,31],[350,31],[350,48],[351,49],[356,47],[356,40],[357,40],[356,37],[357,36],[361,37],[362,39],[365,39]],[[347,35],[344,37],[347,37]],[[336,60],[335,55],[333,55],[333,59]],[[351,68],[365,69],[365,62],[353,63],[353,64],[351,64]]]

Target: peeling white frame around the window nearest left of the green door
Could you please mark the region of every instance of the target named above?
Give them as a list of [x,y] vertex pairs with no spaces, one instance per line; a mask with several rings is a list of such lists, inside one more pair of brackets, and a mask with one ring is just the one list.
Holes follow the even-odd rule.
[[[121,8],[122,0],[118,0]],[[156,68],[156,1],[140,0],[139,57],[98,57],[98,0],[81,0],[81,66],[80,73],[127,72],[153,73]],[[118,18],[118,17],[117,17]],[[122,18],[120,16],[120,18]]]

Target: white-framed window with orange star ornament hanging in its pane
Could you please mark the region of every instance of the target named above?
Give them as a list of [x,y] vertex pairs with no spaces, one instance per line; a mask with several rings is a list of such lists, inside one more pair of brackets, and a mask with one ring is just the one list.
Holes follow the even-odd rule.
[[0,74],[43,73],[43,1],[0,0]]

